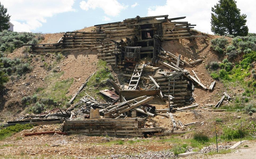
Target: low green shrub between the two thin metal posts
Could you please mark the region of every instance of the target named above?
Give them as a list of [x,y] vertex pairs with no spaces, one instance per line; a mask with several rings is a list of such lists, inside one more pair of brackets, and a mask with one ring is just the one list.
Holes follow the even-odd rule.
[[244,130],[241,131],[240,129],[233,130],[232,128],[225,127],[220,137],[222,139],[233,140],[233,139],[239,139],[240,134],[241,134],[241,137],[243,138],[246,135],[246,132]]

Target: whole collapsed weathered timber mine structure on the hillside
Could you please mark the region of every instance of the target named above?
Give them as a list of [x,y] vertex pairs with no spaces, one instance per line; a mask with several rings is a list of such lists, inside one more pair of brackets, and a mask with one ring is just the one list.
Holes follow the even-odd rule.
[[[66,120],[63,130],[67,133],[91,135],[107,133],[117,136],[166,135],[176,130],[176,123],[184,127],[181,121],[175,122],[173,118],[175,114],[172,113],[198,106],[195,103],[184,107],[194,101],[192,95],[195,84],[204,90],[208,89],[200,83],[195,72],[193,72],[195,76],[193,77],[186,69],[182,68],[185,65],[192,67],[193,64],[199,63],[203,59],[188,63],[181,59],[181,55],[176,56],[165,51],[161,45],[164,40],[206,37],[191,35],[190,29],[194,28],[192,26],[195,25],[174,21],[184,18],[169,19],[168,15],[137,16],[122,22],[95,25],[96,30],[94,32],[66,32],[58,43],[28,44],[32,46],[31,52],[40,53],[53,51],[82,52],[83,50],[97,49],[99,59],[111,64],[114,70],[122,71],[118,74],[123,76],[123,81],[119,81],[120,84],[117,84],[112,80],[107,80],[106,82],[113,87],[113,90],[100,91],[101,94],[112,99],[111,102],[100,103],[87,94],[65,111],[58,109],[50,113],[33,116],[33,118],[39,118],[39,120],[31,119],[33,121],[24,120],[31,117],[24,116],[20,118],[23,121],[9,122],[7,125],[28,121],[35,124],[44,124],[44,122],[49,124]],[[93,74],[88,77],[69,103],[72,103],[92,76]],[[211,84],[209,89],[212,90],[214,85],[215,82]],[[154,98],[153,96],[168,101],[169,108],[157,110],[152,105],[146,104]],[[221,102],[222,100],[217,107]],[[163,127],[146,127],[145,117],[154,117],[155,115],[170,118],[173,129],[166,131]],[[97,119],[103,118],[103,116],[104,119]],[[128,119],[129,117],[133,118]],[[41,118],[44,118],[44,121],[40,121]],[[85,120],[85,118],[94,120]],[[187,125],[189,124],[187,123]]]

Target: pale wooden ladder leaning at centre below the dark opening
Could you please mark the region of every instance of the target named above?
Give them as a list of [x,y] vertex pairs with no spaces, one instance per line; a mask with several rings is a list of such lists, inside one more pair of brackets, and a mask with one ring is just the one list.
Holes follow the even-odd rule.
[[128,85],[128,89],[136,90],[136,88],[138,86],[140,76],[141,76],[143,68],[144,68],[144,64],[142,65],[142,68],[138,68],[138,67],[139,67],[139,64],[137,64],[134,68],[133,75],[131,76],[131,80]]

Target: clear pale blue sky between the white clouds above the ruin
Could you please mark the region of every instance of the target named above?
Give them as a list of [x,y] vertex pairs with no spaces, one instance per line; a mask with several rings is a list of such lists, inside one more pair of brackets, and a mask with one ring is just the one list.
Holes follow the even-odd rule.
[[[66,32],[82,29],[84,27],[90,27],[96,24],[122,21],[127,18],[136,17],[137,15],[144,17],[147,16],[147,10],[149,7],[156,6],[157,4],[164,5],[166,3],[165,0],[152,2],[143,0],[139,1],[139,3],[136,0],[131,0],[129,3],[127,3],[127,1],[118,2],[123,3],[125,6],[127,6],[127,8],[122,10],[117,16],[108,16],[105,15],[101,8],[89,9],[88,11],[82,10],[79,6],[79,1],[75,1],[73,8],[76,11],[65,12],[48,17],[46,18],[47,23],[44,23],[42,27],[31,31],[43,33]],[[136,2],[138,5],[132,8],[131,5],[135,4]],[[103,21],[104,16],[109,17],[111,20]]]

